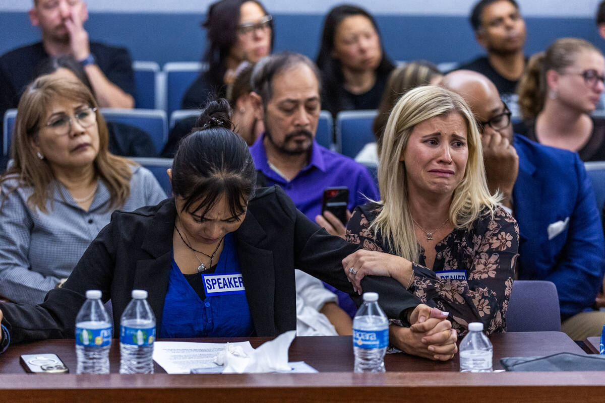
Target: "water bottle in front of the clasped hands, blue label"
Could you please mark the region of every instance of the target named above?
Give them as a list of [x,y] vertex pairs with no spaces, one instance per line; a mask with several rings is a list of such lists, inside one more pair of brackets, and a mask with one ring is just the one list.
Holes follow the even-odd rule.
[[388,319],[378,305],[376,292],[364,292],[364,305],[353,318],[355,372],[384,372],[388,346]]

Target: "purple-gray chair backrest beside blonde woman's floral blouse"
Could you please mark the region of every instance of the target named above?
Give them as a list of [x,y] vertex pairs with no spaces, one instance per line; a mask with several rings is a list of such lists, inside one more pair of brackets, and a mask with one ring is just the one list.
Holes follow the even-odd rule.
[[560,332],[561,311],[554,283],[515,280],[506,311],[507,332]]

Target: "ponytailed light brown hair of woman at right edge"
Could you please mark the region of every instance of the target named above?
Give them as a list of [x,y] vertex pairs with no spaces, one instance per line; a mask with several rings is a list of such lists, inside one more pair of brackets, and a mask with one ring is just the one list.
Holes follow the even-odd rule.
[[548,92],[546,72],[555,70],[561,73],[564,68],[574,65],[581,51],[602,54],[587,40],[560,38],[552,42],[545,52],[536,53],[529,59],[517,86],[518,105],[524,119],[537,117],[544,108]]

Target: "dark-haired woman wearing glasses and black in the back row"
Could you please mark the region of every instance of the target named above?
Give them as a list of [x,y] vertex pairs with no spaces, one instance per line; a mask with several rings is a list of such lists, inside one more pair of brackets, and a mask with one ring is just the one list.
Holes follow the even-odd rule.
[[208,7],[208,49],[202,59],[208,65],[183,97],[183,109],[195,109],[215,96],[224,97],[237,66],[256,63],[273,48],[273,18],[257,0],[220,0]]

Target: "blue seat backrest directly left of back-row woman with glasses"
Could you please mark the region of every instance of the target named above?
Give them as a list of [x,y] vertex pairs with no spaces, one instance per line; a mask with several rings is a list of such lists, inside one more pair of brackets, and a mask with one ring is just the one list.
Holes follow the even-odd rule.
[[164,65],[166,76],[166,113],[181,109],[183,95],[197,77],[208,69],[200,62],[171,62]]

